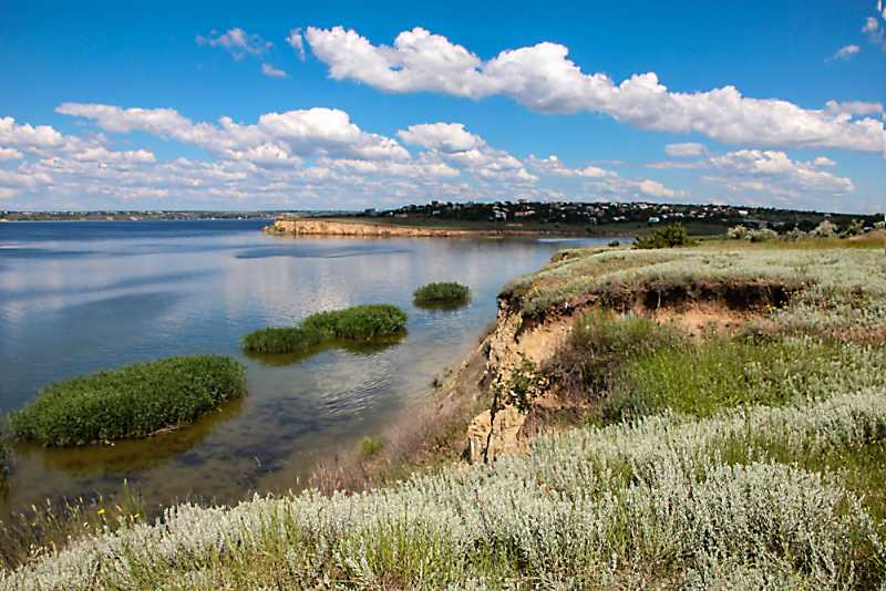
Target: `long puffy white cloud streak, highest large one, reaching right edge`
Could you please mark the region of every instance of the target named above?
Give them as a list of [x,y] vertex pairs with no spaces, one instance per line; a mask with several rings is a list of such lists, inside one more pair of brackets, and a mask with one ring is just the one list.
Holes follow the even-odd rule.
[[353,30],[309,27],[306,39],[336,80],[388,92],[440,92],[468,98],[505,95],[544,113],[597,112],[643,129],[699,133],[730,144],[813,146],[880,152],[883,123],[807,110],[775,98],[750,98],[734,86],[670,91],[655,73],[616,84],[585,74],[557,43],[505,50],[483,61],[445,37],[415,28],[392,46]]

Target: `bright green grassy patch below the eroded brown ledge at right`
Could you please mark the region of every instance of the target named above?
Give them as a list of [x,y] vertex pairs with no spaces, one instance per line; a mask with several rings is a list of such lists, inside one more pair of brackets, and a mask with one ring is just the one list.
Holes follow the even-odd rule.
[[812,338],[715,338],[626,360],[601,405],[604,423],[664,408],[710,416],[722,408],[782,406],[801,398],[875,386],[886,352]]

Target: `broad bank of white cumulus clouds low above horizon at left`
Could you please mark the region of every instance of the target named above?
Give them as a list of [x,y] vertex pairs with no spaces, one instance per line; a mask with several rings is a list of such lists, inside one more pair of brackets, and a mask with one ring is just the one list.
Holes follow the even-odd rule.
[[86,199],[134,207],[126,201],[135,199],[135,207],[212,208],[243,200],[239,207],[337,208],[394,206],[430,196],[547,195],[522,160],[461,124],[404,129],[403,135],[424,144],[414,144],[420,149],[412,155],[395,139],[364,132],[347,113],[331,108],[267,113],[248,125],[113,105],[66,103],[58,112],[89,118],[112,134],[138,131],[200,146],[214,158],[158,160],[144,148],[112,149],[113,135],[75,137],[3,120],[4,139],[17,142],[7,145],[18,145],[23,156],[16,169],[0,167],[0,194],[13,205],[21,203],[17,198],[27,199],[28,207]]

